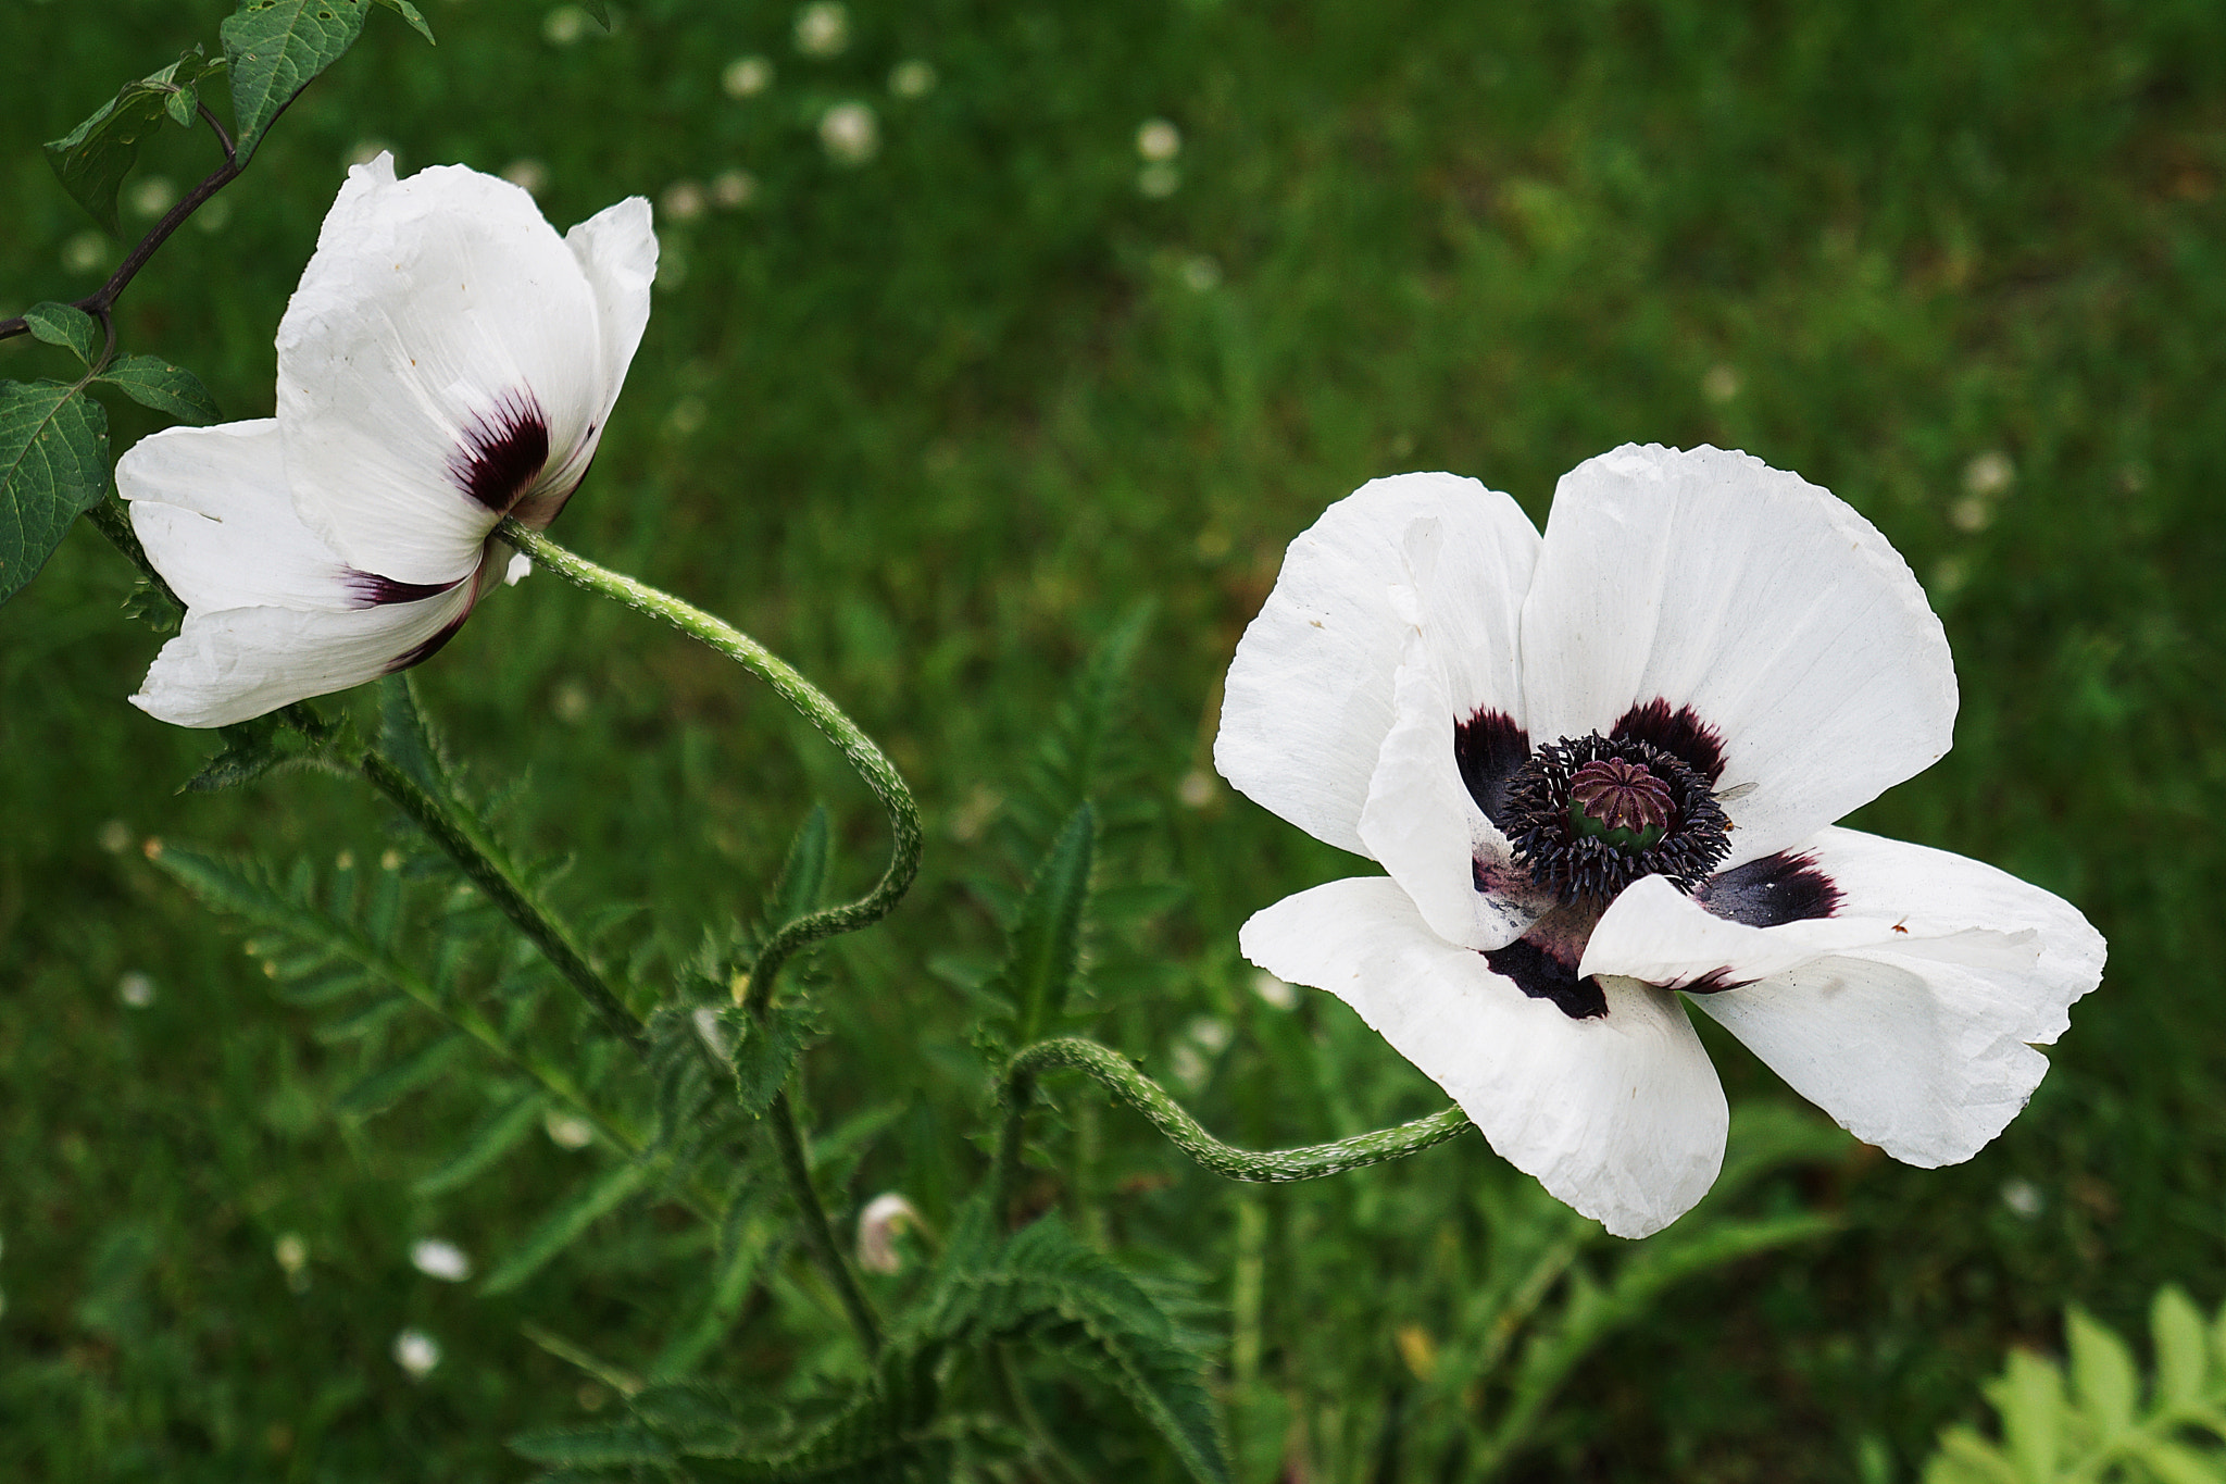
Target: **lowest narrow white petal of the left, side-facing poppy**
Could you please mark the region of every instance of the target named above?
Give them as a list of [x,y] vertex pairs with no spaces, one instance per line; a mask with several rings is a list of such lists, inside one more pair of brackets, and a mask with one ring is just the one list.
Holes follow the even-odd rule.
[[227,728],[394,670],[472,612],[474,583],[354,612],[196,607],[131,705],[180,728]]

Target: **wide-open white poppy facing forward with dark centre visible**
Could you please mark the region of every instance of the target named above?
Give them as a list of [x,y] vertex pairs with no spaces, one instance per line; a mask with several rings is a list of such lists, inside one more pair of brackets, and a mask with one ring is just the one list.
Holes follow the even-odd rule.
[[1244,954],[1623,1237],[1723,1166],[1674,990],[1859,1139],[1968,1159],[2104,941],[1992,865],[1832,828],[1948,752],[1954,710],[1901,556],[1747,454],[1592,458],[1543,538],[1476,481],[1373,481],[1291,543],[1213,761],[1389,877],[1258,912]]

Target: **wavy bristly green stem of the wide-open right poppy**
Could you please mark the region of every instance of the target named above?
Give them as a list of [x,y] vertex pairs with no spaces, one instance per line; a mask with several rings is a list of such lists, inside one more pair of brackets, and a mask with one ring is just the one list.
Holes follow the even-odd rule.
[[[1037,1041],[1015,1055],[1004,1068],[1004,1079],[997,1088],[999,1101],[1013,1115],[1024,1115],[1035,1075],[1060,1068],[1089,1072],[1097,1079],[1097,1086],[1151,1119],[1153,1128],[1166,1135],[1182,1152],[1227,1179],[1280,1184],[1342,1175],[1345,1170],[1418,1155],[1431,1144],[1445,1144],[1469,1128],[1469,1117],[1460,1108],[1447,1108],[1427,1119],[1400,1124],[1398,1128],[1378,1128],[1331,1144],[1275,1150],[1233,1148],[1209,1135],[1160,1084],[1135,1070],[1117,1050],[1080,1037]],[[1020,1117],[1008,1117],[1004,1135],[997,1139],[995,1190],[999,1204],[1020,1168]]]

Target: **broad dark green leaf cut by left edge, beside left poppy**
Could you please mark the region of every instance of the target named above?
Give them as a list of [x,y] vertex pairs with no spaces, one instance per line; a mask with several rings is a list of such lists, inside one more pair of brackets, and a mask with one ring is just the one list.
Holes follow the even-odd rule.
[[109,492],[109,414],[60,380],[0,383],[0,603]]

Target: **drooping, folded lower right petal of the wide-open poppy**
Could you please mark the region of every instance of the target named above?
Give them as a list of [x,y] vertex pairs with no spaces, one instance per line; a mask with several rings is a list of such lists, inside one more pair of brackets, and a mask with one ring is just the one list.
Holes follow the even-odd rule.
[[2104,941],[2068,901],[1981,861],[1823,830],[1803,848],[1843,892],[1830,919],[1727,923],[1647,879],[1609,906],[1583,968],[1676,983],[1854,1137],[1919,1166],[1970,1159],[2048,1070]]

